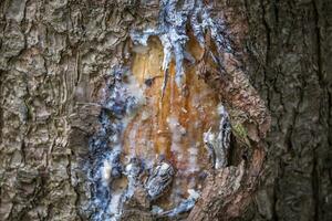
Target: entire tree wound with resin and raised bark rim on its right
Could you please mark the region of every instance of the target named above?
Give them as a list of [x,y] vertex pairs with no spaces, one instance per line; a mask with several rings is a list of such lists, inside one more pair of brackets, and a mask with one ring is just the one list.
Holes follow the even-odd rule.
[[[132,32],[131,70],[116,67],[110,76],[90,149],[96,160],[87,165],[94,220],[126,217],[133,200],[154,215],[176,217],[191,210],[196,191],[205,200],[189,219],[207,219],[210,202],[210,219],[237,217],[255,189],[270,125],[264,104],[232,55],[225,22],[201,1],[176,2],[162,1],[157,28]],[[250,148],[231,166],[230,122],[246,143],[237,151]]]

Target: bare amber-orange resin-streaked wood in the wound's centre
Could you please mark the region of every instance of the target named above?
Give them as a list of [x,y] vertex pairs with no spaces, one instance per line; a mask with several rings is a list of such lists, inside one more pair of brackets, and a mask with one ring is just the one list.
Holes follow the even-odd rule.
[[[199,44],[188,42],[188,52],[198,59]],[[145,104],[129,119],[124,133],[124,155],[136,156],[152,167],[165,156],[176,169],[176,177],[164,206],[174,207],[187,197],[188,189],[201,189],[204,171],[210,162],[203,135],[219,124],[216,93],[196,73],[195,61],[185,62],[185,84],[175,83],[174,61],[163,92],[163,46],[151,38],[147,46],[134,48],[132,73],[144,92]]]

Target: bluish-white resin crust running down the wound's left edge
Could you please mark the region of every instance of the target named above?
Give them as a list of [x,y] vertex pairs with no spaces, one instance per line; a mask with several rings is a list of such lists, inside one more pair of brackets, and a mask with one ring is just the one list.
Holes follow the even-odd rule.
[[[89,179],[93,183],[93,199],[87,208],[96,211],[92,220],[120,220],[122,214],[121,187],[113,187],[113,180],[120,178],[122,165],[120,155],[123,146],[123,131],[145,103],[143,91],[135,77],[124,67],[115,66],[111,73],[115,83],[102,91],[101,129],[92,137],[91,159],[87,164]],[[110,117],[110,114],[115,117]],[[138,127],[138,126],[136,126]],[[135,128],[134,131],[137,131]],[[132,135],[135,137],[135,134]],[[135,144],[131,144],[135,150]],[[132,152],[132,155],[134,155]]]

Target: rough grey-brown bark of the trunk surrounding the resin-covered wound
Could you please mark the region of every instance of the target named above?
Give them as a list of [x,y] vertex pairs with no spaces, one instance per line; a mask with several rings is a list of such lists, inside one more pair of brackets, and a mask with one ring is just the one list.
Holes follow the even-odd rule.
[[[226,14],[271,129],[264,140],[248,135],[259,140],[249,160],[208,180],[188,219],[332,220],[332,2],[212,6]],[[3,0],[0,10],[0,220],[86,220],[82,161],[100,88],[113,64],[131,60],[128,31],[156,23],[158,2]],[[221,188],[237,178],[239,187]]]

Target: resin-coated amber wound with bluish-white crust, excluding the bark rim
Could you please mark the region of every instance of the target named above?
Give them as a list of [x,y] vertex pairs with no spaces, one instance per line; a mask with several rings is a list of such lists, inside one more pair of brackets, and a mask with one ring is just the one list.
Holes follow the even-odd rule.
[[[204,50],[207,32],[215,52]],[[92,220],[120,220],[133,199],[156,217],[188,212],[210,164],[227,166],[229,117],[196,73],[201,54],[222,72],[220,54],[231,51],[226,35],[225,22],[200,0],[162,0],[157,27],[131,32],[146,50],[136,50],[132,69],[113,66],[103,92],[84,167]]]

